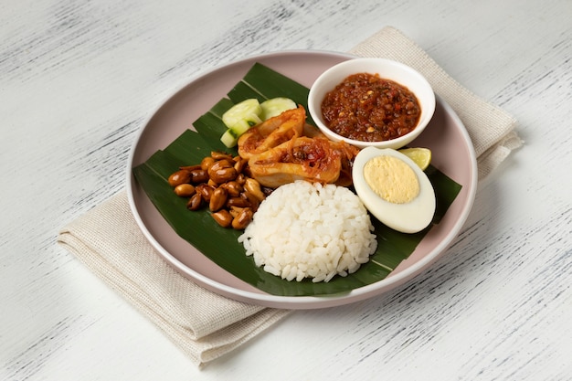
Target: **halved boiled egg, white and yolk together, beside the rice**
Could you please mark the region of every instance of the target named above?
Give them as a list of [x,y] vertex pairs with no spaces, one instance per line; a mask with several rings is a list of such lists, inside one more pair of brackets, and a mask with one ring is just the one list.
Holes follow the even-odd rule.
[[427,228],[435,214],[435,190],[404,153],[366,147],[355,156],[355,193],[381,223],[403,233]]

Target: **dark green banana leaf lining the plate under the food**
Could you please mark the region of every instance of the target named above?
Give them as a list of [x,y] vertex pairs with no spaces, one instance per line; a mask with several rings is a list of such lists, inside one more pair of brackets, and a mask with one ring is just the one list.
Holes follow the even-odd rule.
[[[408,258],[430,228],[416,234],[404,234],[387,228],[372,217],[377,249],[369,262],[354,274],[346,277],[336,276],[329,282],[298,282],[282,280],[256,267],[253,259],[245,255],[244,248],[238,243],[241,231],[221,228],[207,210],[186,209],[186,200],[175,196],[167,178],[179,166],[200,163],[202,158],[213,150],[237,153],[235,149],[228,149],[220,143],[220,136],[227,129],[221,120],[224,111],[245,99],[257,98],[259,101],[265,101],[279,96],[289,97],[307,109],[308,91],[301,84],[257,63],[228,92],[228,98],[218,101],[210,111],[193,123],[196,131],[185,131],[164,150],[157,151],[145,163],[132,169],[135,179],[146,195],[180,237],[221,268],[261,291],[274,295],[332,296],[383,280],[403,259]],[[312,120],[309,118],[308,122],[312,123]],[[461,185],[433,166],[429,166],[426,173],[437,196],[438,207],[432,224],[438,224],[461,191]]]

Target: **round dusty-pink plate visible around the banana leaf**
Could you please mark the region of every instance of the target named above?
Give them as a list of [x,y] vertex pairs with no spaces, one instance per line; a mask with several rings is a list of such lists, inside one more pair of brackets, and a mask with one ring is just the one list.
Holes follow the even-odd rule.
[[133,167],[192,128],[192,122],[224,98],[254,63],[260,62],[310,88],[325,69],[350,58],[355,57],[327,51],[282,51],[244,58],[200,75],[176,90],[154,111],[136,137],[129,156],[127,193],[133,217],[143,235],[175,270],[207,290],[240,302],[282,309],[315,309],[363,301],[393,290],[426,270],[446,251],[471,211],[477,188],[477,164],[468,132],[439,96],[433,118],[415,145],[431,149],[432,164],[461,184],[461,192],[440,224],[429,230],[408,259],[386,279],[344,294],[277,296],[239,280],[180,238],[133,178]]

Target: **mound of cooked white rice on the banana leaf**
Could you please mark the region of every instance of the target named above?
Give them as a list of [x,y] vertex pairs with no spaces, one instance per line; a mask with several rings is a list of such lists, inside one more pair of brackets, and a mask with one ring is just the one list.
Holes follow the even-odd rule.
[[376,251],[365,206],[337,185],[281,185],[238,237],[256,266],[285,280],[329,281],[346,276]]

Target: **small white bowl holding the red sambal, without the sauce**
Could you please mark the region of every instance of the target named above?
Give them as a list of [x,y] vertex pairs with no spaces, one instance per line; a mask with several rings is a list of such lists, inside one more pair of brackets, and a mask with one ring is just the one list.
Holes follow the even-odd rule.
[[[362,142],[348,139],[330,130],[323,122],[323,98],[348,76],[357,73],[377,73],[382,79],[391,79],[413,92],[421,106],[421,115],[415,129],[396,139],[382,142]],[[344,141],[359,148],[374,146],[397,150],[411,143],[427,127],[435,111],[435,93],[427,79],[407,65],[385,58],[354,58],[325,70],[313,82],[308,95],[308,111],[323,134],[335,142]]]

